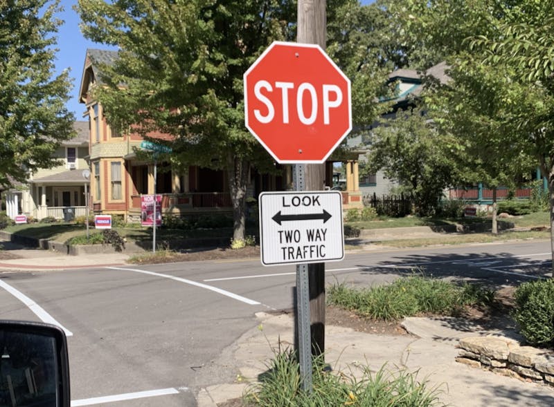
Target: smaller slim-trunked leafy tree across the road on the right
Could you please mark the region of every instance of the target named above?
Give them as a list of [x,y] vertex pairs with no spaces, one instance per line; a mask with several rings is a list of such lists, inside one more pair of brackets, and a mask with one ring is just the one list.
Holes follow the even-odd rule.
[[458,182],[483,182],[492,189],[492,233],[497,234],[497,189],[515,187],[536,168],[513,138],[518,129],[507,120],[505,97],[518,85],[505,70],[483,66],[470,55],[451,59],[449,81],[431,87],[427,106],[441,132],[451,134]]

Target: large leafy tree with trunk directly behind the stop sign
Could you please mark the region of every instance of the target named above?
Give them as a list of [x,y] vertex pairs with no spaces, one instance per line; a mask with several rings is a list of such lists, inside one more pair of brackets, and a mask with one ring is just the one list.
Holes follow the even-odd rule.
[[[357,2],[330,3],[330,25],[344,21],[349,6]],[[110,124],[174,135],[176,164],[226,169],[233,239],[244,239],[249,170],[274,171],[274,165],[244,127],[242,75],[272,41],[294,40],[296,1],[80,0],[77,10],[85,37],[120,48],[116,64],[101,67],[105,86],[95,90]],[[330,44],[338,38],[334,30]],[[351,57],[339,48],[339,66],[348,66]],[[371,90],[357,93],[366,118],[375,114],[375,82],[364,82],[371,66],[351,65],[348,75]]]

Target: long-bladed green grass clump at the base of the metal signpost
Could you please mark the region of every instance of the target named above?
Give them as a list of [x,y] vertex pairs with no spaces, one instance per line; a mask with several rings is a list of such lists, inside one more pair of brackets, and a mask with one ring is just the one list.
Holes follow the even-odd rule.
[[260,383],[251,385],[245,392],[247,406],[443,406],[438,400],[440,390],[429,388],[427,381],[418,381],[417,374],[406,370],[388,372],[386,366],[371,372],[367,366],[361,377],[356,378],[352,373],[324,370],[321,359],[312,362],[313,392],[307,394],[301,390],[296,354],[289,348],[279,349]]

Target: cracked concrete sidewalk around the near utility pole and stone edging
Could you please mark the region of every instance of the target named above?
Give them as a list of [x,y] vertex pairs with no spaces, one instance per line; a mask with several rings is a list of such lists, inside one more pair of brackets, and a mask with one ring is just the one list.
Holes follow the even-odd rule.
[[[289,315],[257,314],[252,328],[231,347],[237,381],[204,388],[197,397],[199,407],[216,407],[242,397],[249,383],[258,380],[274,357],[274,349],[292,346],[293,320]],[[479,325],[452,318],[409,318],[403,323],[411,335],[385,336],[350,328],[325,327],[325,362],[335,372],[361,375],[369,366],[375,372],[386,364],[393,372],[405,368],[418,372],[418,381],[438,388],[441,402],[456,407],[554,406],[554,388],[504,377],[457,363],[456,345],[463,337],[511,336],[510,332],[485,331]],[[338,405],[338,404],[337,404]]]

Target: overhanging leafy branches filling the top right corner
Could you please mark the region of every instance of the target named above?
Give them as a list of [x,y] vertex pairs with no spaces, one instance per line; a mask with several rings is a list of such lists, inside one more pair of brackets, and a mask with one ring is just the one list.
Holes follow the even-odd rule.
[[[510,135],[506,145],[533,157],[548,179],[554,226],[554,1],[403,1],[404,21],[411,16],[432,46],[505,77],[499,120]],[[552,233],[554,272],[554,228]]]

